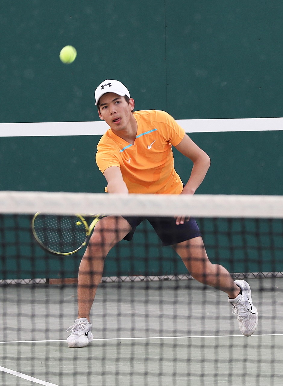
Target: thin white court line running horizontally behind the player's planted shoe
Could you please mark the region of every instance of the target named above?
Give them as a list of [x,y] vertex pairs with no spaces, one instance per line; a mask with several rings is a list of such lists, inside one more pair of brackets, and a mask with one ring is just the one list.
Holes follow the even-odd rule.
[[[253,334],[251,337],[269,337],[269,336],[283,336],[283,334]],[[186,336],[174,336],[174,337],[134,337],[134,338],[96,338],[98,340],[141,340],[141,339],[179,339],[179,338],[230,338],[230,337],[244,337],[244,335],[186,335]],[[65,339],[57,340],[11,340],[2,343],[48,343],[48,342],[65,342]]]

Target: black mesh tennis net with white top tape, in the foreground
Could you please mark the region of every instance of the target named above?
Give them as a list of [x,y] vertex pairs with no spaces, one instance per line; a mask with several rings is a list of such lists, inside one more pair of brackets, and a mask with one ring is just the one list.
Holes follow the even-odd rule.
[[[69,255],[43,249],[32,232],[37,212],[43,215],[42,244],[51,240],[50,249],[63,247],[65,252],[66,245],[73,251],[84,242],[77,231],[85,223],[85,232],[93,213],[115,216],[111,229],[110,217],[97,223],[100,241],[89,242],[92,259],[98,250],[107,254],[109,234],[119,239],[126,232],[121,232],[116,216],[162,221],[179,215],[196,218],[209,260],[225,267],[238,283],[250,284],[250,310],[256,307],[259,315],[255,332],[246,337],[239,330],[237,306],[219,290],[220,269],[213,288],[203,258],[197,260],[201,276],[186,268],[194,270],[191,261],[199,249],[204,256],[204,247],[191,242],[181,250],[162,246],[145,220],[131,241],[122,240],[109,251],[98,272],[102,279],[90,313],[94,340],[80,349],[69,348],[66,328],[77,319],[77,280],[85,245]],[[62,222],[68,225],[64,232],[57,231]],[[163,229],[164,244],[175,240],[176,227],[154,224],[157,233],[159,226]],[[279,385],[283,376],[282,256],[280,196],[2,191],[0,384]],[[83,278],[89,277],[81,268],[80,272]],[[94,281],[81,284],[84,294],[96,287]],[[238,306],[242,322],[248,312],[248,306],[244,310]]]

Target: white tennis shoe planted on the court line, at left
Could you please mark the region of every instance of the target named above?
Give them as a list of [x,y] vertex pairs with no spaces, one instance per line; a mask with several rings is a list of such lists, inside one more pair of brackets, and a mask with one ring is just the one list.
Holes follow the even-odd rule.
[[87,318],[76,319],[75,323],[67,328],[66,331],[72,331],[66,340],[69,347],[85,347],[93,340],[91,324]]

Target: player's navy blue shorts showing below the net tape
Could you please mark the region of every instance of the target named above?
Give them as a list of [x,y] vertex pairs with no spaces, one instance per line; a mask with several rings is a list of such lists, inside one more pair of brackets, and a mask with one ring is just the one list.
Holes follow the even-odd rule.
[[[124,217],[124,216],[123,216]],[[132,240],[136,227],[143,221],[147,220],[151,223],[157,236],[162,241],[162,245],[174,245],[179,242],[194,239],[194,237],[201,236],[196,220],[191,217],[189,221],[184,224],[176,225],[176,218],[174,217],[124,217],[131,225],[132,230],[125,237],[124,240]]]

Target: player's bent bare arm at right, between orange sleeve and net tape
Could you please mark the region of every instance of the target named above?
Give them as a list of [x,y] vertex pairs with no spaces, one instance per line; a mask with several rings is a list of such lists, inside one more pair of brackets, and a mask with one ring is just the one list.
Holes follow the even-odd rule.
[[210,166],[210,158],[194,141],[185,134],[176,149],[193,161],[193,168],[188,182],[184,186],[183,194],[194,194],[199,185],[203,182],[203,179]]

